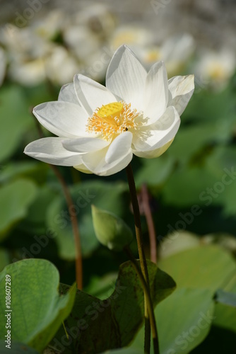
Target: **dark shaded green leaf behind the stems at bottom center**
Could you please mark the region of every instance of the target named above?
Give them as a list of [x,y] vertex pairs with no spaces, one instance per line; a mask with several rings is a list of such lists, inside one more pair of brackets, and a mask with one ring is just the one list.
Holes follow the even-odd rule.
[[[148,274],[155,305],[175,290],[175,282],[150,261]],[[107,299],[100,300],[85,292],[77,292],[71,315],[65,321],[72,339],[67,341],[66,348],[61,349],[66,354],[76,346],[78,353],[89,354],[127,346],[143,323],[143,308],[143,289],[138,275],[130,261],[123,263],[119,267],[115,290]],[[57,345],[62,336],[61,328],[51,342],[54,348],[59,348]]]

